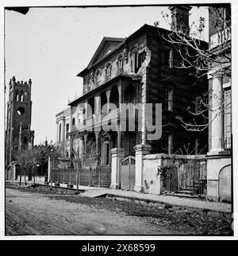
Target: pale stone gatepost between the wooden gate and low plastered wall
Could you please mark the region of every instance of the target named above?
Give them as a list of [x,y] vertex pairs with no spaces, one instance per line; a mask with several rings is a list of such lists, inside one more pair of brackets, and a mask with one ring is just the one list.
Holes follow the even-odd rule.
[[136,176],[135,176],[135,187],[134,191],[143,192],[144,190],[144,155],[150,153],[152,147],[151,145],[135,145],[134,149],[136,151]]

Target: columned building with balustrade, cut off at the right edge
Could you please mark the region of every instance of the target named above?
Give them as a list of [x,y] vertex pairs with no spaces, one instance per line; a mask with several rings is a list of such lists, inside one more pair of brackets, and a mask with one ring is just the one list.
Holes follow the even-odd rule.
[[[207,196],[232,200],[232,97],[231,97],[231,9],[209,7],[209,49],[220,54],[224,64],[213,64],[209,72],[210,105]],[[226,57],[228,56],[228,58]],[[219,109],[219,107],[221,107]]]

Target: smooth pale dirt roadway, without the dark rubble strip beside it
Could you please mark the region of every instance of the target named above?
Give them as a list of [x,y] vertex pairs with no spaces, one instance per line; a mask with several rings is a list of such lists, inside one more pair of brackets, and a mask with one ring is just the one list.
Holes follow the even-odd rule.
[[[166,231],[160,230],[159,233]],[[154,225],[85,204],[6,189],[6,235],[153,235]],[[167,232],[166,232],[167,233]]]

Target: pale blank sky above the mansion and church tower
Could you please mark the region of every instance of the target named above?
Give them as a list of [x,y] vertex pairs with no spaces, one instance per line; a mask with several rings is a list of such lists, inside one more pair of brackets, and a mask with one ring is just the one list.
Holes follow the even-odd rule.
[[[82,95],[86,68],[102,37],[129,37],[147,23],[168,29],[161,11],[165,7],[30,8],[23,15],[6,10],[6,86],[12,76],[31,80],[32,130],[35,144],[56,139],[56,114],[67,108],[67,99]],[[191,10],[190,22],[208,11]],[[205,39],[207,40],[207,26]],[[8,95],[8,91],[6,91]]]

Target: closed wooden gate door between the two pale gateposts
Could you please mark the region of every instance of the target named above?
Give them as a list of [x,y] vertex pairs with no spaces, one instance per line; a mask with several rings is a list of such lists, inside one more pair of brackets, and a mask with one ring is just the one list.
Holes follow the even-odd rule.
[[121,189],[133,190],[135,187],[135,157],[125,157],[121,161]]

